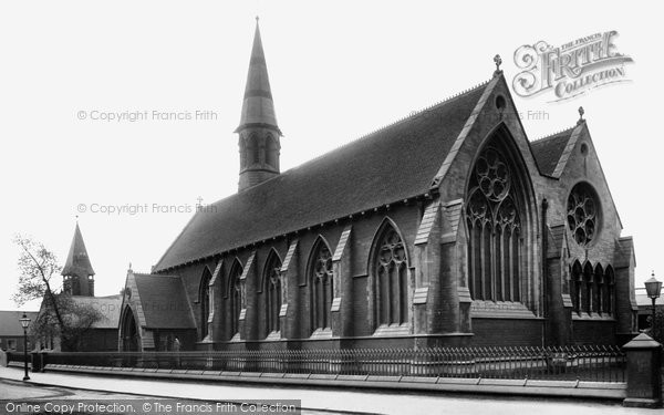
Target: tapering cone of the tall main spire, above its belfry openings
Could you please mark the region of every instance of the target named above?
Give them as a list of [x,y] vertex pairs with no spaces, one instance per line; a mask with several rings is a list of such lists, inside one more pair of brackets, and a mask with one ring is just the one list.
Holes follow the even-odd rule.
[[260,39],[258,17],[256,17],[256,32],[253,34],[253,48],[251,49],[251,59],[249,61],[249,73],[247,74],[240,125],[236,129],[236,133],[249,126],[270,126],[281,134],[277,125],[277,115],[274,113],[270,80],[268,77],[268,65]]

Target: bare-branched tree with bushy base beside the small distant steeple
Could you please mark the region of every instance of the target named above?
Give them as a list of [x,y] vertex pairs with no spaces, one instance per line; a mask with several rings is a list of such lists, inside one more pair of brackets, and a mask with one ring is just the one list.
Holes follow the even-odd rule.
[[43,299],[39,317],[31,324],[31,334],[40,338],[59,338],[63,350],[80,350],[85,334],[103,315],[91,304],[81,304],[64,292],[55,292],[53,277],[62,268],[55,255],[43,243],[17,236],[20,248],[19,286],[12,299],[17,305]]

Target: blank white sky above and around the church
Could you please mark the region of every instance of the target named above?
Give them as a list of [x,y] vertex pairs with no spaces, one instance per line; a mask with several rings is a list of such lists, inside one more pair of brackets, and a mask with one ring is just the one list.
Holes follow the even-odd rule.
[[[542,3],[544,4],[544,3]],[[260,25],[286,170],[488,80],[500,53],[546,40],[561,45],[616,30],[635,63],[631,83],[564,103],[519,98],[546,111],[528,136],[585,117],[624,231],[636,247],[636,286],[658,266],[661,27],[655,2],[558,1],[34,1],[0,4],[0,309],[14,309],[17,248],[33,236],[64,261],[77,205],[96,293],[117,293],[127,264],[147,272],[193,208],[236,191],[236,128],[255,15]],[[80,111],[214,111],[216,121],[81,121]],[[105,215],[91,205],[148,205]],[[59,281],[61,279],[59,278]],[[32,307],[33,309],[35,305]]]

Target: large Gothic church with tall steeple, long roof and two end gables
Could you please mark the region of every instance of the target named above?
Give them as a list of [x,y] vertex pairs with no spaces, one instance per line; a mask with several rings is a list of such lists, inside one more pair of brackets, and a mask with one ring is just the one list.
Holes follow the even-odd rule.
[[633,241],[589,123],[580,110],[529,141],[495,61],[487,82],[281,172],[257,23],[238,191],[196,212],[151,273],[128,271],[120,350],[629,339]]

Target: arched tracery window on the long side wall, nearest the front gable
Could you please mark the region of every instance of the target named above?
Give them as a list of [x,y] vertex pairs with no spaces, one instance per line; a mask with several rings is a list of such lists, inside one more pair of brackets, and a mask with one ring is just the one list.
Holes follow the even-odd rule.
[[376,243],[374,259],[375,307],[378,325],[408,322],[408,277],[406,248],[396,230],[387,225]]

